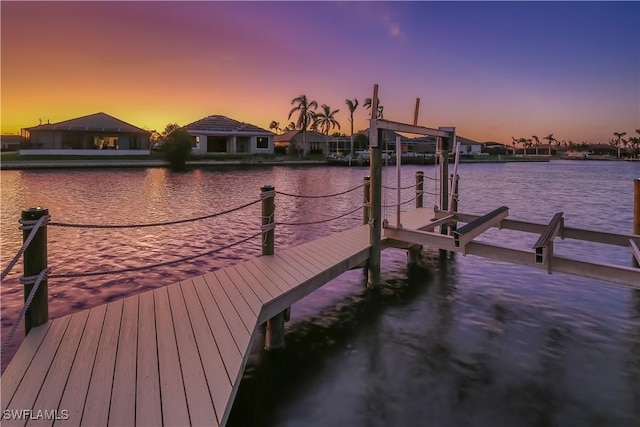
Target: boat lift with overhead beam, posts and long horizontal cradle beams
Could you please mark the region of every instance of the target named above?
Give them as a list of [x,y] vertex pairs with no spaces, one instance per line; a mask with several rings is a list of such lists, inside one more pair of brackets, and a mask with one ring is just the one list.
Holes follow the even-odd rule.
[[[377,111],[378,86],[374,86],[372,111]],[[640,290],[640,268],[617,264],[605,264],[593,261],[578,260],[554,254],[554,240],[575,239],[608,245],[629,247],[632,258],[640,265],[640,235],[617,234],[604,231],[566,227],[562,212],[556,213],[549,223],[539,224],[509,219],[509,208],[501,206],[485,215],[474,215],[456,212],[457,206],[457,168],[459,163],[459,145],[456,143],[455,128],[440,127],[438,129],[417,125],[419,100],[413,124],[405,124],[372,118],[370,120],[371,141],[371,256],[369,259],[369,285],[380,280],[380,239],[381,236],[391,242],[392,246],[426,245],[450,252],[461,252],[463,255],[475,255],[497,261],[526,265],[529,267],[553,272],[568,273],[582,277],[617,283]],[[434,208],[429,224],[421,229],[410,229],[402,225],[400,212],[401,183],[401,142],[396,139],[396,221],[389,224],[382,218],[381,209],[381,155],[378,141],[382,140],[383,131],[390,130],[437,138],[437,151],[440,164],[440,207]],[[454,174],[451,177],[449,191],[448,156],[449,148],[456,146]],[[451,203],[450,203],[451,202]],[[428,212],[428,210],[426,210]],[[457,228],[458,223],[465,223]],[[436,228],[438,231],[436,232]],[[509,229],[539,235],[531,250],[513,249],[498,244],[479,242],[476,237],[491,228]],[[387,243],[389,244],[389,243]]]

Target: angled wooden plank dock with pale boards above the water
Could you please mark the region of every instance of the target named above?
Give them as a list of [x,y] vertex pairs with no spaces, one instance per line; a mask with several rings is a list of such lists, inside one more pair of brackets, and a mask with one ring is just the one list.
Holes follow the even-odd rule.
[[[417,209],[403,221],[420,228],[432,216]],[[363,225],[33,328],[2,375],[3,414],[15,411],[2,425],[225,425],[258,326],[363,264],[369,233]]]

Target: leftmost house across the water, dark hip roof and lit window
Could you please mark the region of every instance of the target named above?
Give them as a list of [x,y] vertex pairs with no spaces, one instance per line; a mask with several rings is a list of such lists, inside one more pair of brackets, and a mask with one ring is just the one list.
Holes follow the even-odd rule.
[[150,132],[105,113],[22,129],[20,155],[141,155]]

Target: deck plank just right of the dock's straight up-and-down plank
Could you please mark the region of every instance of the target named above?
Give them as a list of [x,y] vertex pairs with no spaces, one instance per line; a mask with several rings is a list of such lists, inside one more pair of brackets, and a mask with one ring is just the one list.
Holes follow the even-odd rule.
[[[177,286],[177,284],[170,286]],[[173,329],[173,316],[169,305],[167,288],[170,286],[153,291],[158,339],[162,424],[165,426],[184,426],[188,425],[190,421],[176,335]]]

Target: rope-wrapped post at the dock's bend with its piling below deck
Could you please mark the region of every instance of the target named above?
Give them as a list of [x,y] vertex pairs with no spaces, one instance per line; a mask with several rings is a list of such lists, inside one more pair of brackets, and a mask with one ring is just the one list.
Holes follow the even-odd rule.
[[[265,185],[261,188],[262,199],[262,255],[273,255],[275,242],[275,188]],[[278,350],[284,348],[284,322],[289,315],[289,308],[267,320],[264,331],[264,348]]]

